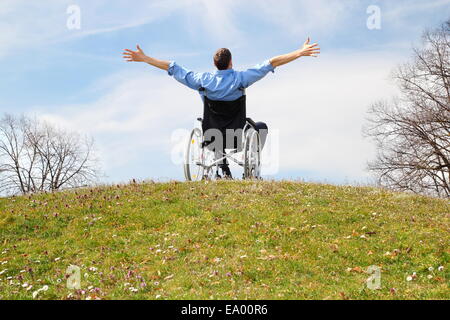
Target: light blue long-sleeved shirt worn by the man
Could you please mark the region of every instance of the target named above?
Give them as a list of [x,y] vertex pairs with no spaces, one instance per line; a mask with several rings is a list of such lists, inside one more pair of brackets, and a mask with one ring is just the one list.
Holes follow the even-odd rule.
[[206,94],[211,100],[233,101],[243,95],[242,89],[246,89],[256,81],[261,80],[270,71],[274,72],[275,68],[270,60],[267,60],[246,71],[228,69],[217,70],[212,73],[193,72],[179,66],[176,62],[171,62],[168,73],[178,82],[191,89],[200,90],[200,88],[204,88],[203,94]]

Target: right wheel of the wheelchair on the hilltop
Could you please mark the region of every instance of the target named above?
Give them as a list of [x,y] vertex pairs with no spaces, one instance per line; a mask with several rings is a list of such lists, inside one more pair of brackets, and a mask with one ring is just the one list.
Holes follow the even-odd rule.
[[251,130],[245,141],[244,149],[244,178],[261,178],[261,142],[257,131]]

